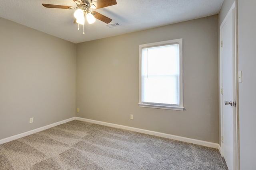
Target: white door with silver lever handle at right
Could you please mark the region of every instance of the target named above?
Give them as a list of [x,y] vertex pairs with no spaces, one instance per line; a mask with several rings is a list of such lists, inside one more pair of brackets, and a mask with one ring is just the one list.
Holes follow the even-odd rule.
[[220,27],[222,62],[222,149],[229,170],[236,170],[235,9]]

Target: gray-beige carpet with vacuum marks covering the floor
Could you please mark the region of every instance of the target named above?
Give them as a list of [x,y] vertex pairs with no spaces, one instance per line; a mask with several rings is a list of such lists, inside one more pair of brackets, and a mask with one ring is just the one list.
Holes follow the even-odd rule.
[[228,170],[217,149],[83,121],[0,145],[0,170]]

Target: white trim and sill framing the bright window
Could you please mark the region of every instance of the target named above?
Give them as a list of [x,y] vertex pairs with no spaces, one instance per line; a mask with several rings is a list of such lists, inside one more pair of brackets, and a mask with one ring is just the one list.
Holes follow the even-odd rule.
[[[180,78],[179,78],[179,84],[180,84],[180,105],[168,105],[168,104],[154,104],[154,103],[146,103],[142,102],[141,93],[142,93],[142,76],[141,76],[141,64],[142,64],[142,49],[143,48],[150,48],[150,47],[158,47],[158,46],[164,46],[164,45],[172,45],[172,44],[179,44],[179,51],[180,51]],[[150,107],[150,108],[157,108],[157,109],[171,109],[171,110],[179,110],[183,111],[183,39],[173,39],[168,41],[161,41],[156,43],[148,43],[148,44],[142,44],[139,45],[139,55],[140,55],[140,62],[139,62],[139,107]]]

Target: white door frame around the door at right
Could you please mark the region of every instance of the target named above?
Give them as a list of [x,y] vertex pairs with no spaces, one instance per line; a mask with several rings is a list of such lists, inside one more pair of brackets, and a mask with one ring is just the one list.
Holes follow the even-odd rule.
[[219,95],[220,95],[220,102],[219,102],[219,107],[220,107],[220,154],[223,156],[223,142],[222,142],[222,137],[223,137],[223,98],[222,98],[222,27],[224,25],[224,23],[227,20],[227,17],[230,13],[232,13],[234,11],[234,25],[233,25],[233,29],[234,29],[234,56],[233,56],[233,60],[235,62],[234,64],[234,70],[233,70],[233,75],[235,75],[235,82],[233,82],[234,84],[234,88],[235,88],[235,94],[233,94],[233,98],[235,99],[236,102],[236,107],[235,107],[235,130],[236,130],[236,145],[235,145],[235,149],[234,149],[234,153],[236,154],[236,164],[234,164],[234,167],[236,167],[236,170],[240,170],[240,151],[239,151],[239,98],[238,98],[238,12],[237,12],[237,0],[235,0],[235,2],[233,3],[233,5],[231,6],[230,10],[228,11],[228,13],[226,14],[226,17],[224,18],[224,20],[222,21],[221,25],[220,25],[220,88],[219,88]]

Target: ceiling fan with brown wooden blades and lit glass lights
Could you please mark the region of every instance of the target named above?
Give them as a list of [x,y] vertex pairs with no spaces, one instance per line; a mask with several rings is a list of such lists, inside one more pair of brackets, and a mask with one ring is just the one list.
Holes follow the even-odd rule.
[[[60,9],[68,9],[68,10],[76,10],[74,12],[74,17],[76,18],[74,23],[78,23],[78,30],[79,24],[84,25],[86,19],[88,23],[94,23],[96,19],[103,21],[105,23],[110,23],[112,19],[93,11],[91,12],[90,9],[100,9],[107,6],[116,5],[116,0],[96,0],[92,2],[92,0],[73,0],[76,2],[76,7],[72,6],[63,6],[63,5],[53,5],[53,4],[42,4],[46,8],[60,8]],[[96,18],[96,19],[95,19]],[[84,32],[83,32],[84,34]]]

